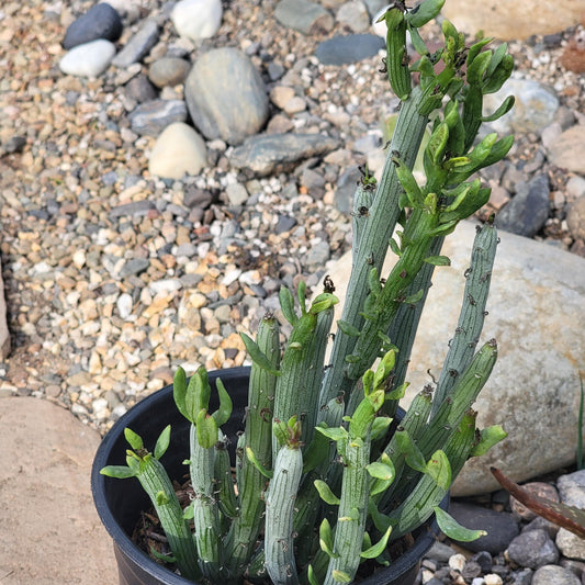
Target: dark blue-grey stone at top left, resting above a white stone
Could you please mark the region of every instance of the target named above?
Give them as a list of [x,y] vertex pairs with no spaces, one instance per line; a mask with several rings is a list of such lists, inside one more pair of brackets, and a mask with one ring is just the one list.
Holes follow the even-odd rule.
[[69,49],[98,38],[115,42],[120,38],[122,29],[117,11],[110,4],[100,2],[68,26],[61,44]]

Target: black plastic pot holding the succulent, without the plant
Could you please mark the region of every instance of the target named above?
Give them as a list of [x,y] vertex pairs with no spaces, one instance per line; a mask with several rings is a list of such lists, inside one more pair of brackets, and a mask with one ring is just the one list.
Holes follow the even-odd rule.
[[[247,403],[249,368],[232,368],[210,372],[212,386],[216,378],[222,379],[234,402],[230,421],[223,428],[236,445],[237,431],[240,430]],[[212,393],[211,408],[215,393]],[[183,465],[189,453],[189,423],[180,415],[172,400],[172,386],[140,401],[122,416],[104,437],[100,445],[91,471],[91,490],[98,514],[114,541],[120,585],[181,585],[192,582],[171,573],[157,564],[132,540],[140,511],[150,507],[148,496],[135,479],[114,480],[100,474],[105,465],[125,464],[127,443],[124,429],[130,427],[143,437],[145,446],[154,448],[160,431],[171,425],[171,447],[162,457],[171,479],[180,480],[185,474]],[[447,508],[448,497],[441,504]],[[363,585],[412,585],[418,572],[420,560],[429,550],[439,531],[436,521],[421,526],[415,533],[414,545],[392,563],[392,566],[378,571],[375,575],[360,581]]]

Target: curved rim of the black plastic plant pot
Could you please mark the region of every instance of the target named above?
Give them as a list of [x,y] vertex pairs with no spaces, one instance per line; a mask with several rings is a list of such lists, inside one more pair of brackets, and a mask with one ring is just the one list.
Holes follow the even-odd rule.
[[[249,376],[249,372],[250,367],[227,368],[225,370],[213,370],[209,372],[209,376],[211,382],[221,376],[222,381],[227,383],[229,380]],[[169,384],[140,400],[114,423],[112,428],[103,437],[98,450],[95,451],[91,468],[91,492],[102,525],[113,539],[115,547],[120,549],[120,552],[122,552],[131,562],[138,566],[143,566],[145,571],[165,585],[193,585],[192,581],[189,581],[155,562],[132,541],[132,538],[120,526],[117,519],[110,508],[108,498],[105,497],[105,482],[115,480],[106,477],[100,473],[100,470],[108,464],[108,459],[112,447],[120,439],[120,436],[124,434],[124,429],[128,426],[130,420],[135,419],[137,416],[150,410],[151,408],[157,408],[158,405],[165,403],[171,396],[172,384]],[[440,506],[443,509],[448,508],[449,494],[446,495]],[[385,575],[382,575],[386,571],[392,571],[394,576],[390,578],[395,578],[396,576],[400,576],[401,574],[410,570],[419,560],[423,559],[423,555],[432,545],[432,542],[435,542],[436,537],[439,533],[439,527],[435,518],[432,518],[430,522],[427,520],[425,524],[429,525],[428,529],[425,533],[416,538],[415,543],[410,549],[408,549],[408,551],[398,556],[389,567],[381,569],[381,571],[376,572],[374,575],[367,577],[359,583],[363,585],[378,585],[383,582]]]

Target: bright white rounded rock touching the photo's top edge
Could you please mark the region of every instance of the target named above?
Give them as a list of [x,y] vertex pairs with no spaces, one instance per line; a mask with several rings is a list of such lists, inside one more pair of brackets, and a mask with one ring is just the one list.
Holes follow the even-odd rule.
[[170,18],[180,36],[199,41],[217,32],[222,13],[221,0],[181,0],[175,4]]

